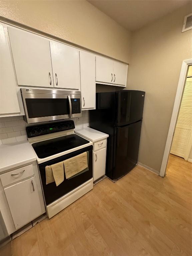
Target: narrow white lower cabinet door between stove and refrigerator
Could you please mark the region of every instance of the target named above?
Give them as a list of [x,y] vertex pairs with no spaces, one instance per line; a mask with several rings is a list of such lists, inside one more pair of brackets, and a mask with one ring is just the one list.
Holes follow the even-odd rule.
[[94,152],[93,181],[105,175],[106,148]]

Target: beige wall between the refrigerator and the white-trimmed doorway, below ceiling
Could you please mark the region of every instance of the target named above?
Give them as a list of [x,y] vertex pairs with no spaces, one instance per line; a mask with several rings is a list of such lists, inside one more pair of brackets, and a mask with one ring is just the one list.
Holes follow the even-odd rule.
[[181,33],[185,6],[132,35],[128,89],[146,91],[139,162],[160,171],[182,61],[191,55],[191,30]]

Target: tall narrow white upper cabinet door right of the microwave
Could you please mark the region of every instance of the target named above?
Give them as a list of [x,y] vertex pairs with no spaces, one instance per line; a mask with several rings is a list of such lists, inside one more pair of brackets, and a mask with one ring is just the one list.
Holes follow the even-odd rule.
[[95,56],[80,51],[82,109],[95,108]]

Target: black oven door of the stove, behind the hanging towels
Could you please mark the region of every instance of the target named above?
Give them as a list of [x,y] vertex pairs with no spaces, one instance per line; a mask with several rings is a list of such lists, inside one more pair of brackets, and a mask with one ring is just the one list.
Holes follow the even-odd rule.
[[[80,172],[76,176],[73,176],[69,179],[66,179],[66,176],[64,174],[64,181],[59,186],[56,186],[55,182],[46,185],[45,167],[47,165],[59,163],[61,161],[77,156],[87,151],[89,152],[88,170]],[[72,191],[73,189],[77,188],[78,186],[80,186],[81,184],[85,183],[86,181],[90,180],[93,177],[93,146],[85,147],[83,149],[77,150],[67,155],[39,164],[38,166],[45,204],[49,205],[50,203],[64,196],[68,192]]]

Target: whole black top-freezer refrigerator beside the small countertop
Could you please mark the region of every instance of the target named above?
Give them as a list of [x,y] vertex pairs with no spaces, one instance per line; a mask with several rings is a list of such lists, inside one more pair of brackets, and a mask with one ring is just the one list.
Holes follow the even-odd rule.
[[121,90],[96,93],[89,111],[90,127],[109,134],[106,175],[119,179],[137,164],[145,92]]

